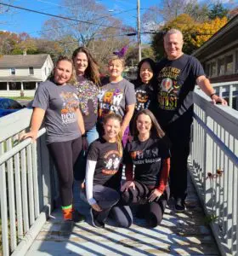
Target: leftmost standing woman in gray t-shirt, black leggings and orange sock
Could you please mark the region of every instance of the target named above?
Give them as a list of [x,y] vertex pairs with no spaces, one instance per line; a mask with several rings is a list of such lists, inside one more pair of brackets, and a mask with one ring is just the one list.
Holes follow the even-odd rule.
[[42,120],[47,131],[47,146],[59,175],[59,194],[65,220],[80,220],[73,214],[73,166],[82,149],[84,124],[78,108],[77,90],[67,84],[73,64],[67,57],[59,57],[52,78],[41,83],[33,101],[31,131],[22,138],[37,139]]

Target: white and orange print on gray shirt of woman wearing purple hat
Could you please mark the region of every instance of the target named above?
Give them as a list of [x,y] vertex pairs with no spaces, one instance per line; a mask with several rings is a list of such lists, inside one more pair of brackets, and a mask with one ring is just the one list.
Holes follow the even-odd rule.
[[99,92],[99,117],[102,118],[108,113],[119,113],[122,98],[123,91],[119,88],[101,90]]

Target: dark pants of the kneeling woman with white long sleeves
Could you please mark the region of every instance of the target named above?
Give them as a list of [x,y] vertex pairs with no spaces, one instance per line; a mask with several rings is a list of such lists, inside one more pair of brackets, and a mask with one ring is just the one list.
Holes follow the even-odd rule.
[[115,218],[119,226],[129,227],[132,224],[133,216],[130,208],[116,205],[121,197],[120,192],[102,185],[95,185],[93,196],[99,207],[103,209],[103,211],[97,212],[96,218],[99,222],[105,223],[111,212],[111,215]]

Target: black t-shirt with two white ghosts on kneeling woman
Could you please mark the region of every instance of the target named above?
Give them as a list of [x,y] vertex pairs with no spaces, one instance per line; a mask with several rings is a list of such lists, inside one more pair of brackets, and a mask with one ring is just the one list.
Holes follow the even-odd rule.
[[88,148],[88,160],[97,161],[94,172],[94,185],[104,185],[110,188],[119,188],[122,173],[119,166],[122,161],[117,143],[108,143],[99,138]]

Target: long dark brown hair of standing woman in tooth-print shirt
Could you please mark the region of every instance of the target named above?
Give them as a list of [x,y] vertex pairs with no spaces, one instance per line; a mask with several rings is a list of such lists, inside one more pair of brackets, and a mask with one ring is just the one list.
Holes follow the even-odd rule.
[[75,58],[78,53],[84,53],[88,58],[88,67],[85,70],[84,76],[94,84],[100,84],[100,73],[98,62],[95,61],[94,57],[90,54],[89,50],[86,47],[79,47],[74,50],[72,54],[72,60],[75,62]]

